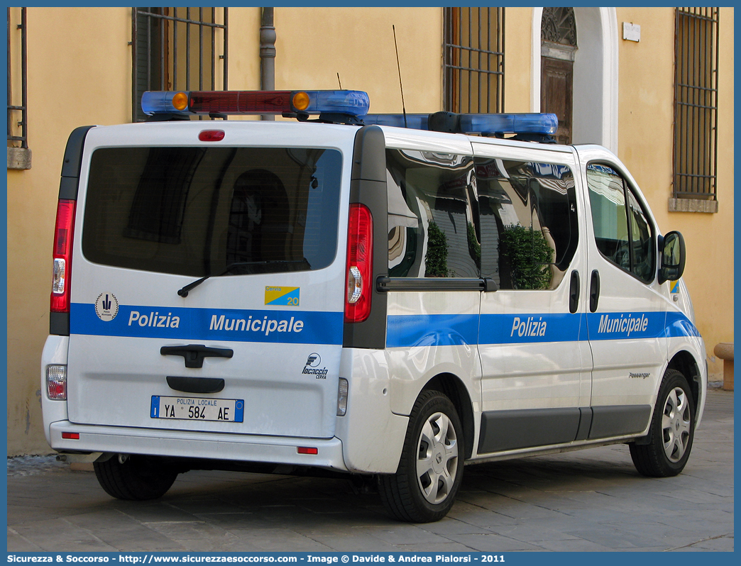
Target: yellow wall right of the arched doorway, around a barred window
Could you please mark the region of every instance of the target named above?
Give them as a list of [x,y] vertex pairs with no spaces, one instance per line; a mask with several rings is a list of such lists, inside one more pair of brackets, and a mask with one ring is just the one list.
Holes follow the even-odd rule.
[[687,244],[684,280],[708,351],[711,381],[722,380],[718,342],[734,341],[734,9],[720,11],[718,213],[668,211],[672,190],[674,8],[617,8],[639,24],[640,42],[619,42],[618,156],[648,200],[662,233],[679,230]]

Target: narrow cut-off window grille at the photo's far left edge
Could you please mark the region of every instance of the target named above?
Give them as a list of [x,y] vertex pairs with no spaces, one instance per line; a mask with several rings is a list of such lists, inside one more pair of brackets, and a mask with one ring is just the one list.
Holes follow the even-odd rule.
[[[22,148],[28,149],[26,9],[21,8],[20,23],[15,26],[11,26],[10,23],[10,10],[10,7],[7,8],[7,143],[8,147],[18,147],[17,144],[20,142]],[[17,33],[13,33],[15,31],[20,32],[19,38]],[[20,75],[17,70],[13,71],[13,63],[17,62],[17,59],[13,56],[14,50],[11,50],[11,47],[17,49],[18,39],[20,39],[21,47]],[[20,90],[21,104],[13,104],[13,101],[18,99],[18,90]]]

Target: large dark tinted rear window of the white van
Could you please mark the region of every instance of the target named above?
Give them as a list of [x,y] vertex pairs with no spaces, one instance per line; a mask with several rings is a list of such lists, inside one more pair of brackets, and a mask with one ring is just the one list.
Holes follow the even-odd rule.
[[327,267],[342,156],[265,147],[110,147],[90,164],[91,262],[193,277]]

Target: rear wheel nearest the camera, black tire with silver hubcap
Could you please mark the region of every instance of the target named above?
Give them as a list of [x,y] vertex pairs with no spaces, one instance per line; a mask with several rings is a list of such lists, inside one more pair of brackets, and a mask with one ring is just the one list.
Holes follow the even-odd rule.
[[399,467],[379,476],[379,494],[396,519],[428,523],[442,519],[463,477],[463,427],[450,399],[423,391],[412,407]]

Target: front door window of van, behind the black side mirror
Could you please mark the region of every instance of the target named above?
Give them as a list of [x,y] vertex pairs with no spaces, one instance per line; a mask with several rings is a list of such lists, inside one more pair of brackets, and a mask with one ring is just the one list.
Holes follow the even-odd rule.
[[654,279],[654,236],[648,215],[612,167],[587,166],[589,204],[597,248],[610,262],[643,282]]

